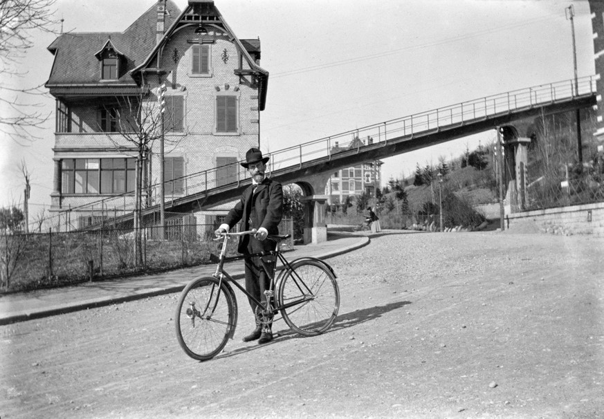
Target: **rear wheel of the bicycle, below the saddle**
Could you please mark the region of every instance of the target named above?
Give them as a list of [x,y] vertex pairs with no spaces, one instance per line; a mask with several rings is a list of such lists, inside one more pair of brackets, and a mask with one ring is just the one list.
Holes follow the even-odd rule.
[[282,277],[277,297],[285,322],[300,335],[329,329],[340,309],[336,276],[321,261],[293,261]]

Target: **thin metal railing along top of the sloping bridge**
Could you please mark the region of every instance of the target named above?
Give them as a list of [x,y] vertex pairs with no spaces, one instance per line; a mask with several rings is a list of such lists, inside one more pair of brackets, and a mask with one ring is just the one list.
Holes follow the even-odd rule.
[[[596,76],[592,75],[580,77],[576,86],[574,80],[564,80],[443,106],[431,111],[387,120],[267,153],[267,156],[271,159],[268,170],[270,172],[302,165],[317,158],[331,158],[334,153],[349,149],[351,146],[351,149],[360,151],[361,147],[372,144],[394,139],[401,140],[401,138],[404,140],[405,137],[410,139],[432,131],[457,127],[460,124],[468,124],[511,111],[566,101],[577,96],[591,95],[595,92]],[[359,140],[356,140],[356,138]],[[166,187],[166,202],[167,205],[170,205],[170,201],[175,198],[204,192],[219,185],[239,183],[247,177],[245,169],[239,163],[188,174],[182,178],[174,179],[170,183],[170,185],[176,185],[174,181],[181,180],[182,188],[171,190],[170,187]],[[149,187],[150,197],[147,201],[151,205],[158,205],[159,203],[158,189],[158,185]],[[77,208],[73,207],[68,211],[100,212],[109,216],[112,214],[122,215],[133,210],[133,202],[132,194],[124,194],[100,199]]]

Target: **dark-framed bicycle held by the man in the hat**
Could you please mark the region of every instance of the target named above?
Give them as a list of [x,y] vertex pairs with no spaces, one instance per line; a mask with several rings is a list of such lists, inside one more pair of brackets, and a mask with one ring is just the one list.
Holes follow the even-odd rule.
[[[275,241],[275,250],[270,252],[226,257],[230,237],[255,232],[222,233],[217,239],[223,240],[219,256],[210,255],[210,260],[217,262],[216,272],[211,277],[192,279],[181,292],[176,307],[176,337],[181,348],[194,360],[212,359],[235,335],[237,298],[231,284],[258,304],[264,326],[275,321],[275,315],[280,313],[292,330],[303,336],[314,336],[328,330],[338,315],[340,289],[333,269],[313,257],[287,261],[280,251],[280,241],[288,239],[289,234],[269,235],[266,239]],[[262,258],[267,256],[272,263]],[[271,280],[269,289],[264,291],[266,304],[250,295],[224,270],[225,262],[248,257],[261,257],[262,267]],[[275,279],[277,260],[283,267]]]

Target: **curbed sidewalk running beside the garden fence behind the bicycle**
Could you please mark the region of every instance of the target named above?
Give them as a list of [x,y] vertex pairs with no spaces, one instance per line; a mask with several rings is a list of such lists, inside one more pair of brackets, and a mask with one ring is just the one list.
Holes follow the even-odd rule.
[[[327,259],[367,244],[369,236],[364,234],[330,233],[329,240],[324,243],[295,246],[292,252],[286,253],[286,258],[289,261],[300,257]],[[160,274],[4,295],[0,297],[0,325],[180,292],[191,279],[211,275],[215,270],[213,264],[203,265]],[[243,278],[243,262],[227,263],[226,271],[235,279]]]

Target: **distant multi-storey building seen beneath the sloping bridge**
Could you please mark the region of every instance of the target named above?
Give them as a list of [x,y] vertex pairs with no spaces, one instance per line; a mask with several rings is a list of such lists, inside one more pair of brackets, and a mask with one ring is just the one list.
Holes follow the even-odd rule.
[[[356,149],[365,145],[373,144],[373,138],[367,137],[367,143],[355,137],[347,147],[340,147],[336,142],[335,147],[331,148],[331,153],[340,153],[342,151]],[[347,197],[362,195],[376,196],[376,188],[381,188],[381,160],[364,162],[361,165],[346,167],[336,171],[325,187],[327,203],[338,205],[345,203]]]

